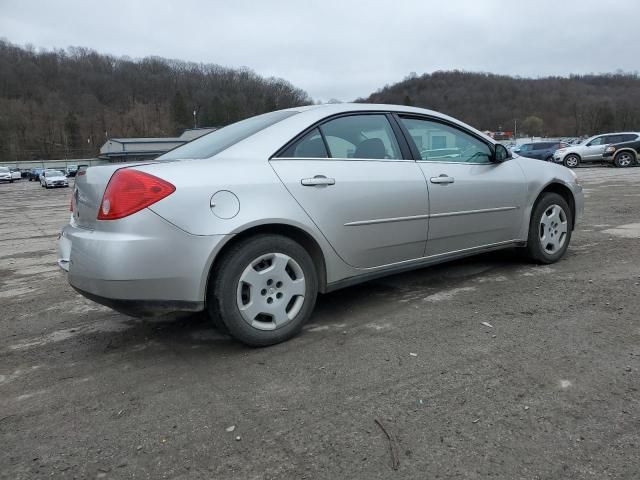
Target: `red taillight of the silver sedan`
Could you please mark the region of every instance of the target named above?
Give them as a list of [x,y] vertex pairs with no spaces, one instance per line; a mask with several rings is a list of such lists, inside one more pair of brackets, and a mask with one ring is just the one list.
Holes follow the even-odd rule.
[[102,196],[98,220],[117,220],[171,195],[176,187],[161,178],[123,168],[109,180]]

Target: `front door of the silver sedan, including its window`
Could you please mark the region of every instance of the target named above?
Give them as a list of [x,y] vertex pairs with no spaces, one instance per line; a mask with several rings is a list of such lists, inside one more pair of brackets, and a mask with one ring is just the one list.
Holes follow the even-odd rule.
[[[519,240],[527,186],[517,162],[492,163],[490,144],[455,125],[409,115],[399,121],[429,182],[427,256]],[[436,139],[457,154],[430,155]]]

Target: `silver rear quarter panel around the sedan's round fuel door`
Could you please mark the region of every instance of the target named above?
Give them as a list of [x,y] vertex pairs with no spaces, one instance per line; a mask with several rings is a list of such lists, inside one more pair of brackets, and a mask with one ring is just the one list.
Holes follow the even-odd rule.
[[[175,185],[173,194],[149,208],[192,235],[234,235],[259,225],[290,225],[316,240],[325,257],[329,282],[354,274],[287,191],[267,159],[213,157],[136,168]],[[211,201],[219,191],[232,192],[238,199],[239,210],[232,218],[214,214]]]

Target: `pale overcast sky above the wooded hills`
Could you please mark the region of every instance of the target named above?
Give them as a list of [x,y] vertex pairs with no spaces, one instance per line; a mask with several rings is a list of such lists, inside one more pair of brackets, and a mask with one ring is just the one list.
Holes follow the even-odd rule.
[[0,0],[0,37],[156,55],[289,80],[316,100],[410,72],[635,71],[640,0]]

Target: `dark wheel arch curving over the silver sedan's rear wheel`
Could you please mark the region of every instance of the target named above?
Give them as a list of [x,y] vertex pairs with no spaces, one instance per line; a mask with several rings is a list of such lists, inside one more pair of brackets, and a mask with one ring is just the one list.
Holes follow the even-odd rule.
[[245,229],[235,232],[234,235],[222,246],[222,248],[216,253],[215,258],[211,262],[209,272],[207,275],[207,283],[205,286],[206,292],[209,288],[211,279],[215,275],[216,266],[220,263],[220,260],[226,255],[226,253],[238,242],[241,242],[247,238],[256,235],[282,235],[288,237],[291,240],[300,244],[311,256],[313,263],[316,267],[316,273],[318,275],[318,290],[321,293],[326,291],[327,285],[327,267],[326,260],[322,248],[313,235],[301,227],[287,224],[287,223],[263,223],[258,225],[251,225]]

